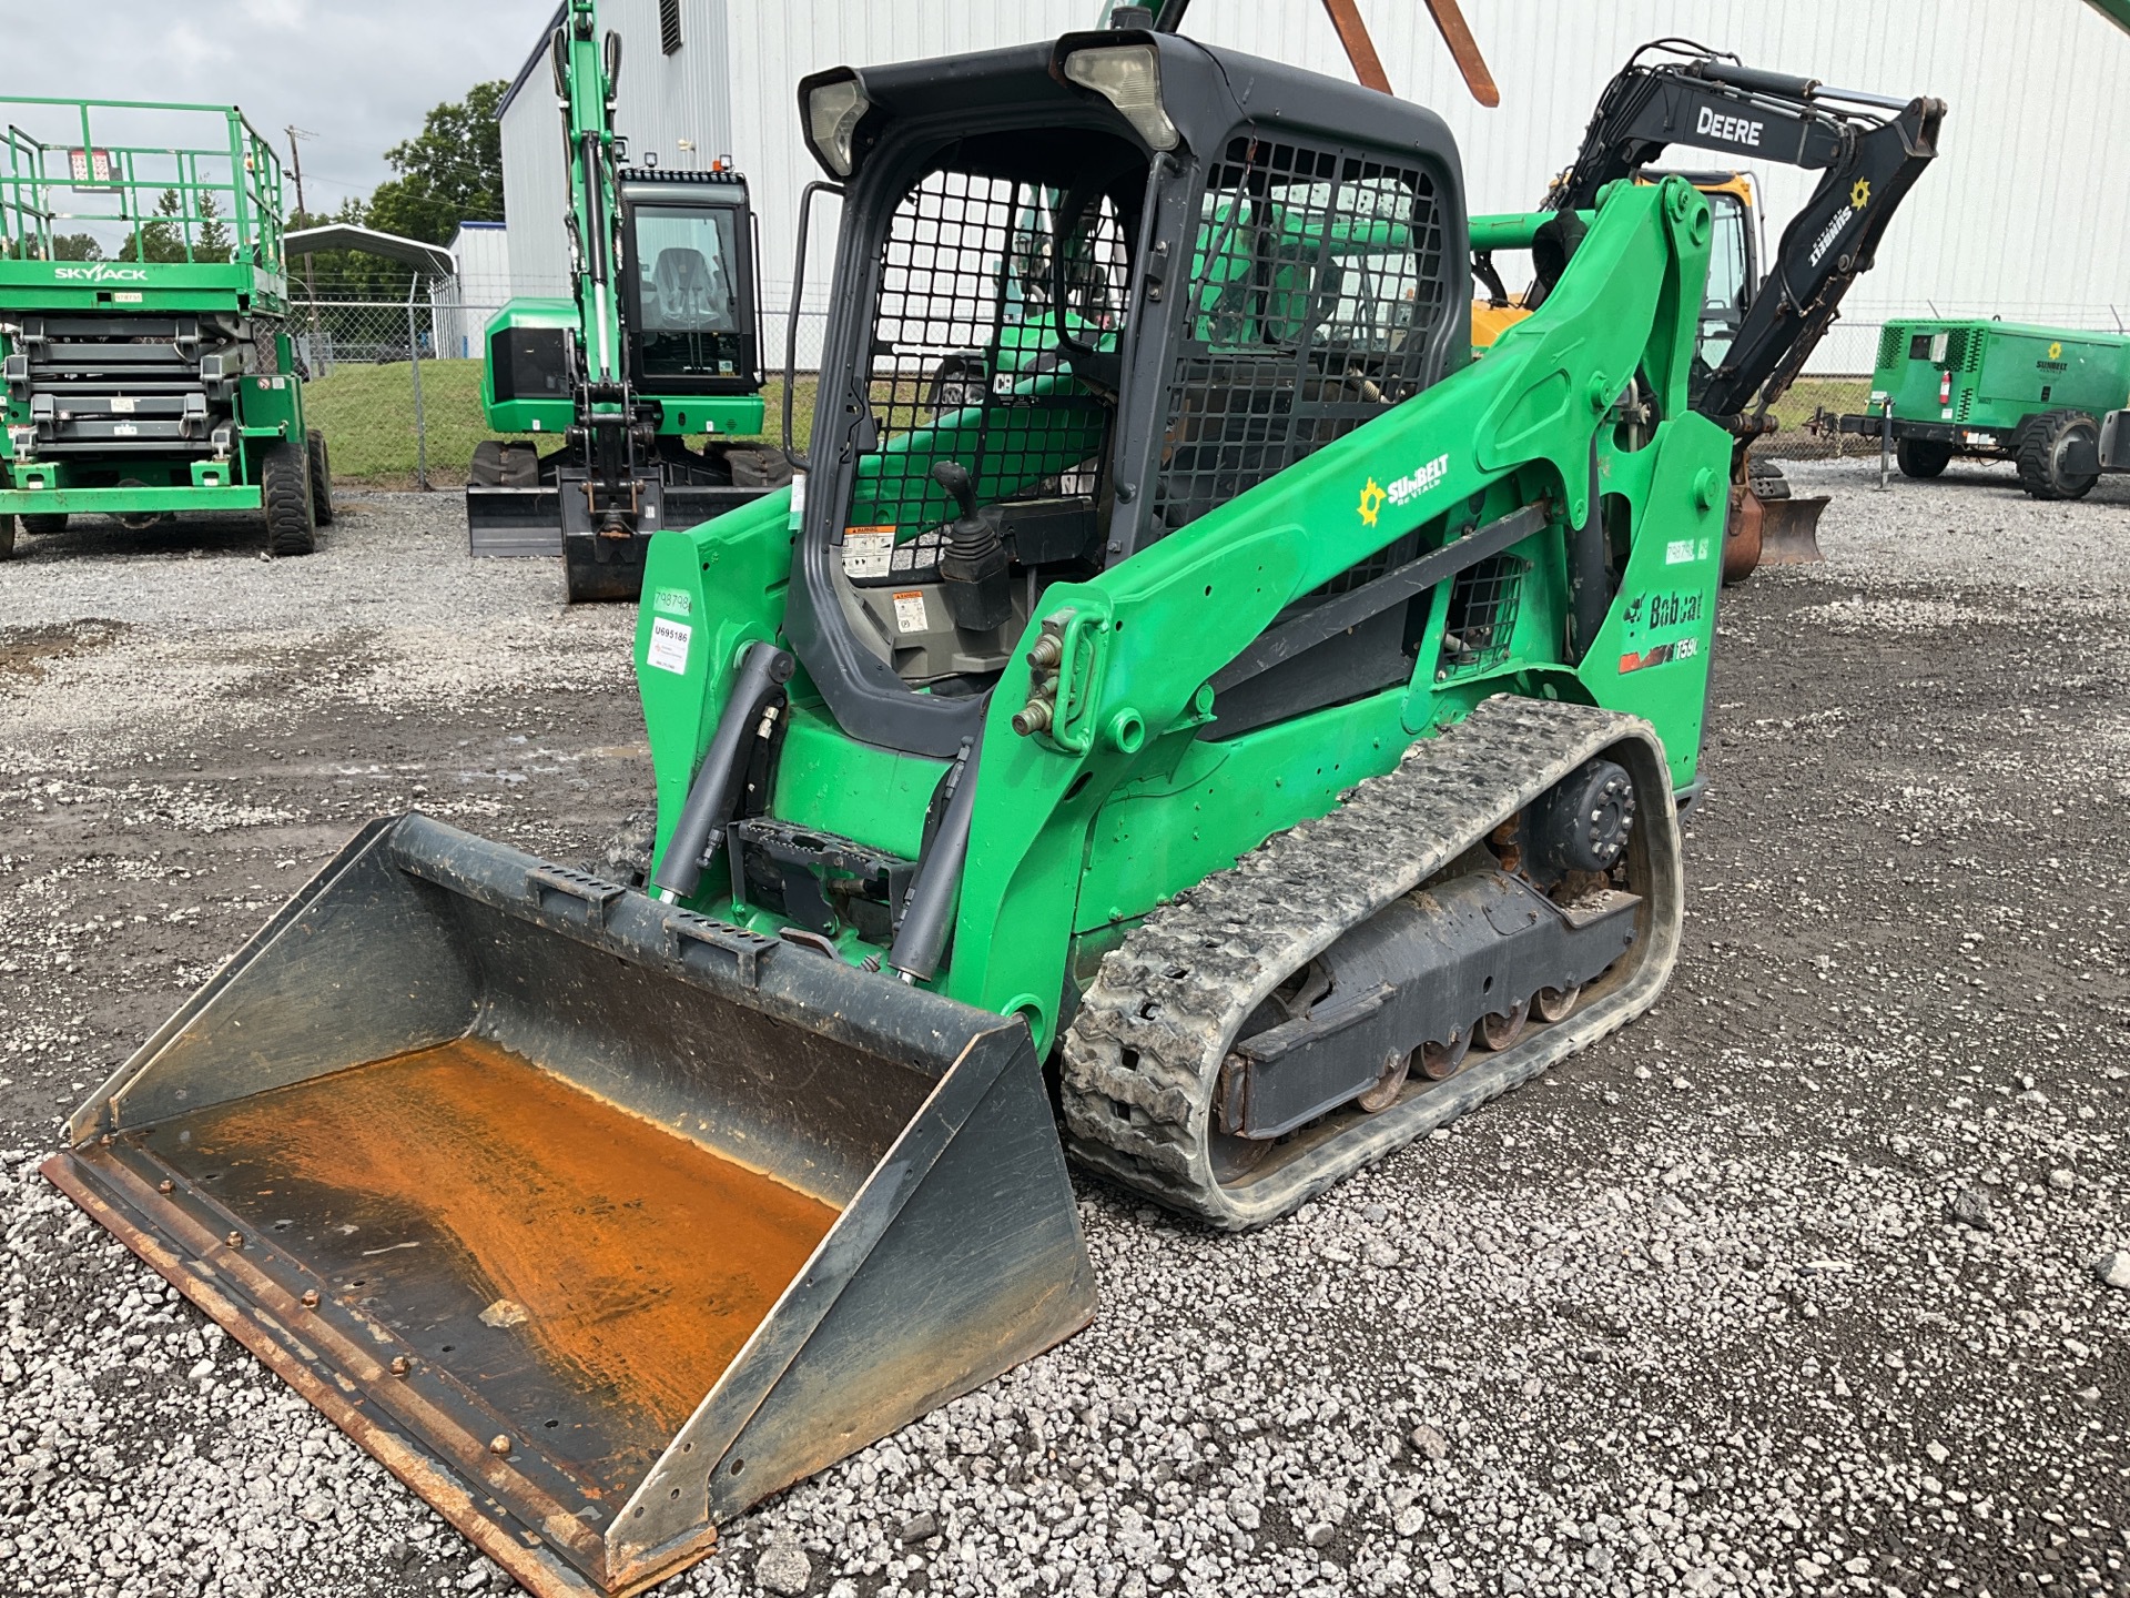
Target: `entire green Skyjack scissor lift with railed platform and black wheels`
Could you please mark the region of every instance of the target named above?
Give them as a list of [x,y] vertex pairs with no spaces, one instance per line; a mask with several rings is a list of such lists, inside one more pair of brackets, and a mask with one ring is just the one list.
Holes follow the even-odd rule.
[[0,558],[15,522],[332,520],[285,332],[281,166],[236,107],[0,98]]

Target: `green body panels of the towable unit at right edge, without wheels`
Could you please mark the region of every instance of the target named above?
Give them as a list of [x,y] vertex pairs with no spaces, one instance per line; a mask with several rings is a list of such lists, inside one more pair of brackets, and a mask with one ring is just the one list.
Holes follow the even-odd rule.
[[[1947,384],[1947,377],[1951,379]],[[2017,322],[1887,322],[1868,415],[2013,430],[2043,411],[2130,405],[2130,337]]]

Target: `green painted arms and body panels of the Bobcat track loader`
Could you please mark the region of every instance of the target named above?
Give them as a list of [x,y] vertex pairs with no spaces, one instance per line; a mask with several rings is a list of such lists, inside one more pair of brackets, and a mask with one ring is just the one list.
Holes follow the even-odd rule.
[[[1527,247],[1540,222],[1478,219],[1474,234]],[[1344,788],[1393,769],[1414,739],[1495,692],[1646,716],[1674,782],[1691,784],[1730,469],[1730,437],[1687,405],[1706,271],[1706,200],[1681,179],[1621,185],[1591,213],[1546,305],[1506,330],[1485,360],[1099,575],[1052,584],[1037,612],[1067,618],[1059,718],[1033,737],[1010,727],[1029,695],[1031,624],[986,714],[958,918],[933,986],[1025,1014],[1048,1048],[1067,986],[1084,982],[1099,952],[1148,910],[1267,835],[1325,814]],[[1634,377],[1661,418],[1646,441],[1612,413]],[[1022,379],[1037,381],[1069,379]],[[952,458],[954,428],[948,415],[897,443]],[[1593,441],[1623,573],[1595,643],[1572,663],[1566,539],[1587,511]],[[1082,445],[1059,441],[1046,469],[1069,467]],[[1402,505],[1384,499],[1384,486],[1421,469],[1421,492]],[[1010,490],[986,482],[980,499]],[[782,490],[652,541],[637,680],[660,850],[739,654],[754,639],[782,639],[799,526],[790,499]],[[1425,643],[1402,686],[1218,735],[1210,680],[1287,605],[1408,533],[1425,550],[1538,501],[1549,520],[1514,550],[1529,575],[1500,665],[1446,671]],[[946,513],[944,503],[931,509]],[[1425,639],[1440,639],[1446,603],[1448,584],[1438,584]],[[679,671],[650,663],[656,618],[690,629]],[[944,769],[837,727],[801,669],[769,814],[914,859]],[[705,871],[692,906],[767,933],[780,927],[765,910],[733,901],[722,863]],[[850,931],[837,946],[852,961],[884,955]]]

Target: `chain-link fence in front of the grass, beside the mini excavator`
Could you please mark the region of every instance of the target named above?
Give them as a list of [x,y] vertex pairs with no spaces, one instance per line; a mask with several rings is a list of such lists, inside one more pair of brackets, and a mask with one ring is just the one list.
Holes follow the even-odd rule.
[[[503,437],[481,413],[481,330],[496,305],[466,305],[454,292],[388,300],[300,300],[288,332],[309,375],[305,409],[326,435],[332,477],[368,488],[460,488],[473,445]],[[803,445],[814,415],[814,369],[826,311],[799,317],[794,430]],[[765,317],[763,430],[782,437],[784,315]]]

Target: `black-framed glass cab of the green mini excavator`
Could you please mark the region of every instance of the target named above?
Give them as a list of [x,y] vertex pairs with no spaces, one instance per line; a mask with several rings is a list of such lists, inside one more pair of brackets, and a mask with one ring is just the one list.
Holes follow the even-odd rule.
[[760,388],[748,185],[737,173],[628,170],[622,294],[639,394]]

